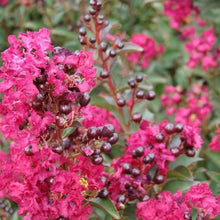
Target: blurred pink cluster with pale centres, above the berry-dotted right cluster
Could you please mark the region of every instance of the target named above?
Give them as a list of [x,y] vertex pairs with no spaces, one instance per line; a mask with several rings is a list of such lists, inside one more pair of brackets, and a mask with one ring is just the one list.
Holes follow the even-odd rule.
[[175,114],[175,123],[198,127],[207,120],[212,105],[206,86],[195,84],[191,91],[184,92],[181,87],[165,86],[161,96],[162,106],[167,116]]

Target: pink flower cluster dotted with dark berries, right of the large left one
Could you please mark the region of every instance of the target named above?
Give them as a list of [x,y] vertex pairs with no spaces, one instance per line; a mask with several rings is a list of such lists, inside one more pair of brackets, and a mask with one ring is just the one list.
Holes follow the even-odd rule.
[[[179,143],[170,146],[172,138],[178,135]],[[125,201],[145,200],[146,191],[152,185],[165,181],[169,163],[183,153],[193,156],[188,152],[200,148],[202,140],[197,131],[188,126],[174,126],[167,121],[160,124],[143,121],[127,143],[125,153],[112,163],[115,172],[108,188],[117,207],[120,207],[120,195]]]

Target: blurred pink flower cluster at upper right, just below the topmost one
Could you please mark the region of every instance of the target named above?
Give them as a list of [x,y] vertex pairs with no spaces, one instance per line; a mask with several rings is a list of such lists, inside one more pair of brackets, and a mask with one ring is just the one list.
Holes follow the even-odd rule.
[[191,41],[186,43],[185,49],[190,54],[187,62],[188,67],[196,68],[201,63],[202,68],[208,71],[210,67],[217,66],[217,61],[212,52],[215,38],[213,28],[209,28],[200,37],[193,37]]

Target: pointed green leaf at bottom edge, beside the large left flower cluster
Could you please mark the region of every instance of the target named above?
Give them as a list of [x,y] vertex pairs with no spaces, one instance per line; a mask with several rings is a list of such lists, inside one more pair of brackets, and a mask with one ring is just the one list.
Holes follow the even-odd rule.
[[106,213],[111,215],[114,219],[120,219],[120,215],[118,211],[116,210],[114,204],[109,198],[105,198],[105,199],[95,198],[95,199],[89,200],[89,203],[91,206],[95,206],[97,208],[104,210]]

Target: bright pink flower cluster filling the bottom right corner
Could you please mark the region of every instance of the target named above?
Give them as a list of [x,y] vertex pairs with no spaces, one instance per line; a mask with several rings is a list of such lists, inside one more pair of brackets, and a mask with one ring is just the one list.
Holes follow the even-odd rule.
[[140,202],[136,216],[143,220],[191,219],[193,206],[197,208],[198,219],[213,219],[220,215],[220,197],[213,196],[208,184],[202,183],[191,186],[185,195],[180,190],[173,195],[164,191],[154,199]]

